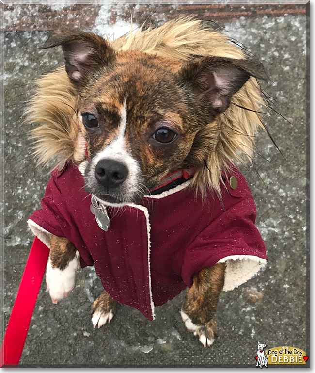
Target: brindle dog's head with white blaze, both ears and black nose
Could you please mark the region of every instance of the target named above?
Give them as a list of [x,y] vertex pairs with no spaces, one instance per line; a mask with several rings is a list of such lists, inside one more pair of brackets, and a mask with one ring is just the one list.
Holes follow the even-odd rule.
[[262,66],[248,59],[196,56],[181,62],[115,52],[87,32],[54,32],[43,48],[57,45],[79,96],[89,157],[85,188],[110,203],[135,202],[168,173],[203,163],[200,149],[210,152],[220,131],[203,140],[198,133],[251,76],[265,78]]

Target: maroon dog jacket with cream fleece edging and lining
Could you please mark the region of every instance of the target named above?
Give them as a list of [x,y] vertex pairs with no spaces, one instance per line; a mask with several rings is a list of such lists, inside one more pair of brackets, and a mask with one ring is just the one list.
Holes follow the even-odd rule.
[[[231,175],[238,181],[236,190],[229,185]],[[51,173],[43,208],[29,224],[47,245],[49,234],[68,238],[79,251],[81,267],[95,265],[112,298],[153,320],[154,306],[190,287],[203,267],[227,261],[223,290],[232,290],[265,265],[252,194],[236,167],[231,175],[226,188],[221,187],[222,204],[211,192],[202,201],[187,188],[188,180],[121,211],[108,207],[110,228],[105,232],[90,211],[91,195],[78,167],[68,163]]]

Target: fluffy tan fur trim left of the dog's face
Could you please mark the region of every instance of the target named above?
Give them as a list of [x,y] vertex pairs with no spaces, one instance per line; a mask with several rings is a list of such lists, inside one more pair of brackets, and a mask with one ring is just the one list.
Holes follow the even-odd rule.
[[40,164],[55,161],[54,167],[63,167],[68,159],[79,162],[84,150],[76,149],[79,141],[77,96],[64,66],[36,81],[36,94],[26,111],[26,120],[41,123],[31,130],[35,140],[34,154]]

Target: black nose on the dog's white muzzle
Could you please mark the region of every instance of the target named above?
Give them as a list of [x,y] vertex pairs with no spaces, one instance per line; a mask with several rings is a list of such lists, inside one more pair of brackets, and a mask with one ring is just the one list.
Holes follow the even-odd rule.
[[128,175],[127,167],[120,162],[102,159],[95,167],[95,178],[107,191],[121,185]]

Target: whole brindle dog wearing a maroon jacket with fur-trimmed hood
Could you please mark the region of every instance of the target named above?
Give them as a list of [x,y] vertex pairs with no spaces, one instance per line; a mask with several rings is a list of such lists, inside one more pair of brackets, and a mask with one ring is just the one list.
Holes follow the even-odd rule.
[[73,290],[79,265],[94,265],[104,287],[92,306],[98,328],[118,303],[153,320],[188,287],[183,322],[212,346],[221,292],[267,260],[233,162],[251,158],[262,126],[263,66],[189,17],[113,42],[57,30],[43,49],[57,46],[65,66],[39,79],[27,111],[39,162],[57,166],[28,220],[50,247],[53,303]]

